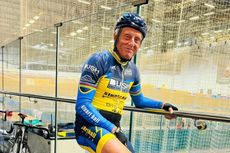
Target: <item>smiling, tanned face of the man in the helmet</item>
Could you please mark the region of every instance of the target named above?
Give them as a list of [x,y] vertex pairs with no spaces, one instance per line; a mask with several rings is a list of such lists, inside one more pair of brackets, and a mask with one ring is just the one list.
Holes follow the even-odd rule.
[[[116,37],[115,34],[114,39]],[[126,60],[130,60],[141,47],[141,41],[142,34],[140,31],[129,27],[123,28],[116,44],[119,55]]]

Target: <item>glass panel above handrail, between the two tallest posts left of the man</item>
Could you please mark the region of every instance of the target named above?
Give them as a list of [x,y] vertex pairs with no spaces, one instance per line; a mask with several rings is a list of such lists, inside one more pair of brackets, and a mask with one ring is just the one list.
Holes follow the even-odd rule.
[[43,29],[22,40],[22,93],[55,95],[55,28]]

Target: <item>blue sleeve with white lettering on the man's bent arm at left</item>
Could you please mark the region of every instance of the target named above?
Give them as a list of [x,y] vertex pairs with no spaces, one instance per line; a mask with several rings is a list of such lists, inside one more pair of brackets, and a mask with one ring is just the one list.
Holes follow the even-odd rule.
[[82,68],[76,100],[76,113],[89,123],[112,131],[115,126],[105,119],[92,105],[96,93],[97,82],[103,75],[102,58],[95,54],[89,58]]

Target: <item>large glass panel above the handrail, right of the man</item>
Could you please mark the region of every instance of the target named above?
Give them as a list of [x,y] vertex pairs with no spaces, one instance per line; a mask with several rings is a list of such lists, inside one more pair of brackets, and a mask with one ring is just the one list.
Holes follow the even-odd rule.
[[207,15],[201,1],[181,2],[150,1],[141,11],[149,27],[138,53],[143,92],[179,109],[229,114],[229,19]]

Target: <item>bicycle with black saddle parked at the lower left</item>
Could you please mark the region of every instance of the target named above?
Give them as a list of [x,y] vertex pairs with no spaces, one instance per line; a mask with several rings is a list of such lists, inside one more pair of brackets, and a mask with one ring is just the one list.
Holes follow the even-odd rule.
[[19,113],[21,118],[20,123],[14,123],[14,127],[17,126],[16,134],[12,139],[12,145],[9,147],[8,153],[31,153],[30,147],[28,145],[28,132],[33,132],[38,134],[45,139],[49,139],[49,130],[43,127],[37,127],[33,125],[27,125],[24,123],[27,115]]

